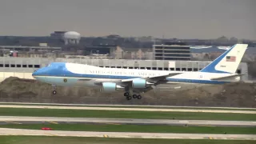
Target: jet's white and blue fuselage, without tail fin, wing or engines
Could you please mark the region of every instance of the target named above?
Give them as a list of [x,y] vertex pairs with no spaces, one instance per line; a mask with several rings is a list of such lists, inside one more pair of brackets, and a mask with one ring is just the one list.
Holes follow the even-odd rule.
[[[49,73],[44,75],[34,75],[35,78],[42,82],[50,83],[55,86],[91,86],[97,85],[94,82],[111,82],[130,78],[155,77],[181,71],[168,70],[134,70],[134,69],[117,69],[102,68],[98,66],[89,66],[76,63],[66,63],[61,68],[49,66]],[[52,70],[51,70],[52,69]],[[42,69],[43,71],[43,69]],[[40,72],[38,72],[40,73]],[[240,77],[234,77],[225,81],[213,81],[211,78],[230,76],[233,74],[222,73],[204,73],[204,72],[185,72],[169,78],[166,78],[166,84],[223,84],[228,82],[238,82]],[[66,79],[66,82],[65,80]]]

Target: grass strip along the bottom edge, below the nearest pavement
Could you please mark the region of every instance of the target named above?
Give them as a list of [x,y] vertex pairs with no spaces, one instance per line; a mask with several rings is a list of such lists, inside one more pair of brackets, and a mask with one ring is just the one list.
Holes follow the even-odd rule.
[[74,138],[38,136],[0,136],[1,144],[254,144],[255,141],[234,140],[169,140],[138,138]]

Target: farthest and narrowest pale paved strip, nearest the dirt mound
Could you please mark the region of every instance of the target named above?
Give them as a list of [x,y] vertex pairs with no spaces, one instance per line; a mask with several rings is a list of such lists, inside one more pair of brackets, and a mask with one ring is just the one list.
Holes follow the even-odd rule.
[[189,109],[163,109],[163,108],[126,108],[126,107],[86,107],[86,106],[26,106],[26,105],[0,105],[2,108],[30,108],[30,109],[59,109],[59,110],[131,110],[131,111],[165,111],[165,112],[198,112],[198,113],[234,113],[256,114],[254,110],[189,110]]

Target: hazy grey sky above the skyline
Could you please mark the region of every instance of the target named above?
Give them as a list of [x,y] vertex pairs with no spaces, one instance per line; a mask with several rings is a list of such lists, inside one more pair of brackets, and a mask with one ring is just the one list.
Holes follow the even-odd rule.
[[0,0],[0,35],[256,40],[256,0]]

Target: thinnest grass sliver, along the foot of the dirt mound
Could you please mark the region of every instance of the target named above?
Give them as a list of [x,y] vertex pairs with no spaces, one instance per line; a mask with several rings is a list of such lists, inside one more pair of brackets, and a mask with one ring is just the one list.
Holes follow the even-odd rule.
[[[70,106],[70,105],[54,105],[54,104],[22,104],[22,103],[0,103],[0,105],[17,105],[17,106]],[[256,108],[214,108],[214,107],[182,107],[182,106],[82,106],[81,107],[117,107],[117,108],[151,108],[151,109],[184,109],[184,110],[249,110],[249,111],[256,111]]]

